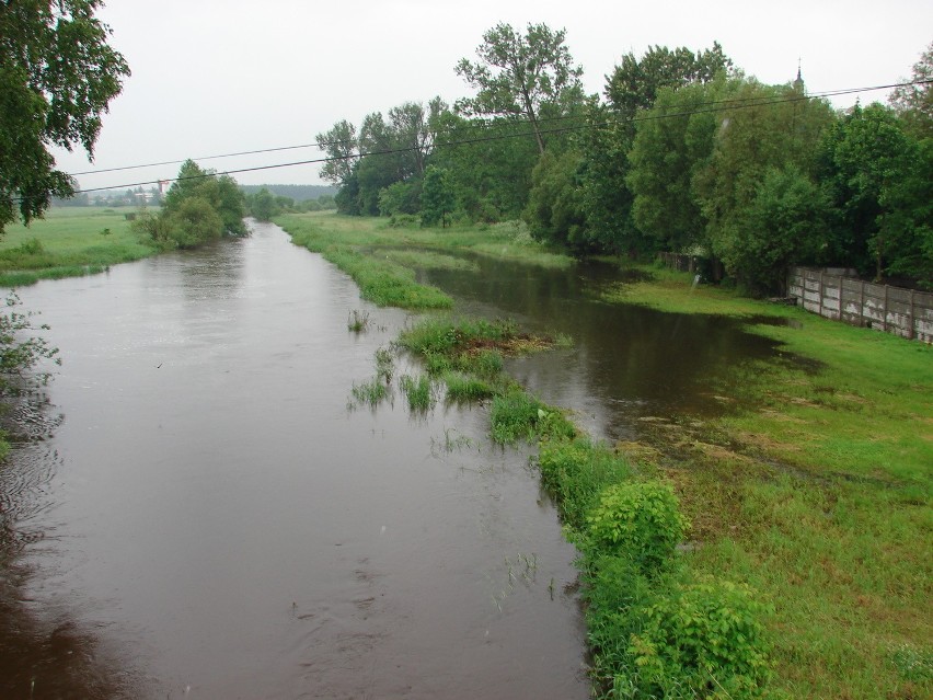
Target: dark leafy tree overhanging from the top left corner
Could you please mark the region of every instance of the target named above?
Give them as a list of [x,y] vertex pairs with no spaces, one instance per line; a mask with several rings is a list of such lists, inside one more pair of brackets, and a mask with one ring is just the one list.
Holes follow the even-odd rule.
[[[74,193],[48,147],[93,156],[101,115],[129,76],[94,18],[100,0],[4,2],[0,11],[0,233]],[[16,213],[19,209],[19,214]]]

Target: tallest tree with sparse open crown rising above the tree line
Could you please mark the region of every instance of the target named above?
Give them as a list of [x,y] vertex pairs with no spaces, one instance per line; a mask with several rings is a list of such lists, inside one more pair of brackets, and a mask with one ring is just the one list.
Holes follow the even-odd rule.
[[480,90],[475,97],[458,103],[460,111],[525,116],[538,150],[543,153],[544,136],[539,123],[542,108],[579,103],[583,99],[583,69],[574,65],[565,37],[566,30],[554,32],[545,24],[529,24],[523,36],[509,24],[497,24],[487,31],[476,48],[480,61],[463,58],[457,64],[457,74]]

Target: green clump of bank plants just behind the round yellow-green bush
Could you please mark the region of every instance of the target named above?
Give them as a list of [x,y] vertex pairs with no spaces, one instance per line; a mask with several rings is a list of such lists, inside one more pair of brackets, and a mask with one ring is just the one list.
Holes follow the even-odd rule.
[[631,474],[624,459],[588,439],[541,445],[538,467],[564,523],[576,530],[584,527],[586,513],[599,492]]

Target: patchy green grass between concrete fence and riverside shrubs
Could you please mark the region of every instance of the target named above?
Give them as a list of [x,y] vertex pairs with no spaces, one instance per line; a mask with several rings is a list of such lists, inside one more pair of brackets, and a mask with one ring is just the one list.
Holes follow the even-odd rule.
[[702,542],[692,565],[774,601],[788,696],[930,697],[933,348],[670,272],[607,298],[745,318],[806,358],[736,367],[716,388],[735,411],[656,440]]

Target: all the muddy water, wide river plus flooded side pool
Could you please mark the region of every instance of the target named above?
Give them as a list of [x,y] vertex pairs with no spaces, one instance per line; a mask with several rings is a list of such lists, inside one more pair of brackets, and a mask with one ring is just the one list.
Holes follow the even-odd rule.
[[[717,410],[710,376],[773,352],[599,303],[604,267],[481,264],[423,275],[572,335],[509,369],[597,436]],[[406,313],[272,225],[20,295],[65,364],[0,466],[0,697],[588,697],[574,550],[527,451],[483,408],[347,408]]]

